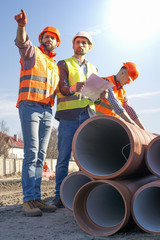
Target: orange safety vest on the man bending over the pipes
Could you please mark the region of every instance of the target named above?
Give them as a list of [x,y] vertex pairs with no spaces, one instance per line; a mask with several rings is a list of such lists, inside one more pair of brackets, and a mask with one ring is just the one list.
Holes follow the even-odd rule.
[[[106,77],[104,79],[107,79],[109,82],[111,82],[115,85],[114,76]],[[120,104],[123,105],[124,97],[126,95],[126,91],[124,90],[124,88],[117,90],[117,86],[114,86],[113,91],[114,91],[118,101],[120,102]],[[119,116],[112,109],[108,100],[97,101],[95,104],[95,107],[96,107],[97,115],[106,114],[106,115],[111,115],[111,116],[115,116],[115,117],[119,118]]]

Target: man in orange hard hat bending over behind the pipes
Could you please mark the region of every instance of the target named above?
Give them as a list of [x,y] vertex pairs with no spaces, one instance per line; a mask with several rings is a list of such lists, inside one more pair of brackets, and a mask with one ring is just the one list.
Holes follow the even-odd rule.
[[124,85],[133,82],[139,75],[139,69],[133,62],[123,63],[122,68],[110,77],[104,77],[107,81],[114,84],[114,87],[108,91],[108,98],[96,101],[96,114],[107,114],[115,117],[121,117],[123,120],[138,125],[145,130],[136,111],[129,104]]

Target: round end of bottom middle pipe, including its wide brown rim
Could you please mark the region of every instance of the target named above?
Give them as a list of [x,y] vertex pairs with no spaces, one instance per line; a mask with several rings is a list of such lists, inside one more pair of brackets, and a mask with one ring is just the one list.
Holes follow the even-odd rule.
[[131,194],[113,180],[94,180],[83,185],[73,201],[77,224],[93,236],[109,236],[130,218]]

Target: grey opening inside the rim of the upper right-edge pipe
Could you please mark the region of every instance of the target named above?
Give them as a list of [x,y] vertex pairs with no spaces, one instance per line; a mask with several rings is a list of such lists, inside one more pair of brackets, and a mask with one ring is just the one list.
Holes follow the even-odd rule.
[[160,139],[156,140],[149,147],[147,152],[147,162],[151,170],[158,176],[160,176]]

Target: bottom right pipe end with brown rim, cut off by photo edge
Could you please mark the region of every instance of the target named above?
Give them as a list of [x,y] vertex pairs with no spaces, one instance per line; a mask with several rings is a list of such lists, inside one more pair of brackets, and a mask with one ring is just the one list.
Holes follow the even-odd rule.
[[135,192],[131,212],[142,230],[160,233],[160,180],[148,183]]

